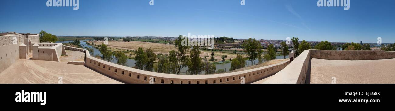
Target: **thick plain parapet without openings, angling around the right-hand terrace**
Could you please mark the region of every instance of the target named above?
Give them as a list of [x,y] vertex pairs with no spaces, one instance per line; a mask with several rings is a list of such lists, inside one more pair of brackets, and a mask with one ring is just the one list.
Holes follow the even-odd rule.
[[305,83],[311,58],[327,60],[377,60],[395,58],[395,52],[372,51],[327,51],[305,50],[288,67],[271,76],[263,83]]

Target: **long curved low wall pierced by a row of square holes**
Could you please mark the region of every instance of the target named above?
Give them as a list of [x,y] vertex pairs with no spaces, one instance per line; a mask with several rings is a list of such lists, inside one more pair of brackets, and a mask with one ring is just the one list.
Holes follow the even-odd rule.
[[[65,46],[68,50],[86,53],[85,66],[113,77],[125,83],[169,83],[169,84],[205,84],[205,83],[252,83],[273,75],[285,68],[289,60],[261,68],[231,73],[214,75],[175,75],[138,70],[127,66],[121,66],[105,60],[94,58],[86,49]],[[244,81],[244,82],[242,82]]]

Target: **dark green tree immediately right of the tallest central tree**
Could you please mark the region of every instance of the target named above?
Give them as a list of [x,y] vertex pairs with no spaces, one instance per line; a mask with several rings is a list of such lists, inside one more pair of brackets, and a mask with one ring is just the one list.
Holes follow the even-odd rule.
[[193,46],[189,53],[188,72],[192,75],[199,74],[202,69],[199,46]]

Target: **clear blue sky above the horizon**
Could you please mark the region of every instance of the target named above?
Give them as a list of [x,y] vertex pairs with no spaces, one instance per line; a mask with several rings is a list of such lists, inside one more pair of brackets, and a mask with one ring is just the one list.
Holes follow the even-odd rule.
[[214,35],[334,42],[395,42],[395,0],[80,0],[79,9],[47,0],[1,0],[0,31],[57,36]]

